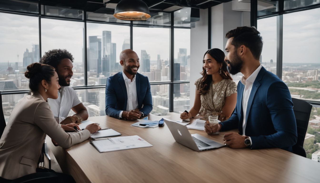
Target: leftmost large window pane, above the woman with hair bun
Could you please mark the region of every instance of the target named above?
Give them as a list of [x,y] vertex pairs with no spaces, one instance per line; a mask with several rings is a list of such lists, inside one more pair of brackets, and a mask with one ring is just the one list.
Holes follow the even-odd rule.
[[0,13],[0,90],[28,89],[27,66],[38,62],[39,18]]

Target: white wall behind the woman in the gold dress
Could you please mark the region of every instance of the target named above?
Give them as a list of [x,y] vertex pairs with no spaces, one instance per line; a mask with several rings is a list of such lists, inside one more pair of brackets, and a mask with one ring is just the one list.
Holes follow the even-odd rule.
[[[196,79],[201,78],[202,60],[208,50],[208,9],[200,9],[200,21],[190,30],[190,108],[195,100]],[[186,109],[189,110],[189,109]]]

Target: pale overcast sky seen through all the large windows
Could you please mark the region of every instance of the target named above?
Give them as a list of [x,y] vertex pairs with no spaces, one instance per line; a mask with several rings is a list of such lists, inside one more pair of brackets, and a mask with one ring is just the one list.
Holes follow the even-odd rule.
[[[39,44],[38,17],[0,13],[0,62],[23,60],[26,48]],[[319,63],[320,58],[320,8],[283,15],[283,62]],[[82,62],[83,22],[41,19],[42,54],[49,49],[65,48],[75,62]],[[103,30],[110,30],[112,42],[117,45],[117,60],[125,38],[130,37],[128,26],[87,23],[87,36],[102,36]],[[133,49],[138,56],[145,49],[156,60],[169,58],[170,29],[133,28]],[[276,62],[276,17],[258,20],[258,30],[263,37],[262,61]],[[190,29],[175,29],[174,57],[179,48],[187,48],[190,54]]]

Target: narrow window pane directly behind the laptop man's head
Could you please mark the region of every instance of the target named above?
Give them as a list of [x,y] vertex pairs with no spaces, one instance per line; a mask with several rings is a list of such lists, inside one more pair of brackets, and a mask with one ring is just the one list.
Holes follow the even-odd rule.
[[260,63],[267,71],[276,74],[277,70],[277,17],[257,20],[258,30],[262,37],[263,48]]

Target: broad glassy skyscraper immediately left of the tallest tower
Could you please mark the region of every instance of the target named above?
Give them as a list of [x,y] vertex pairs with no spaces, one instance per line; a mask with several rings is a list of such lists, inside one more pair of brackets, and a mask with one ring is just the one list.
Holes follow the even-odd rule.
[[101,72],[101,38],[89,36],[90,71],[97,72],[97,77]]

